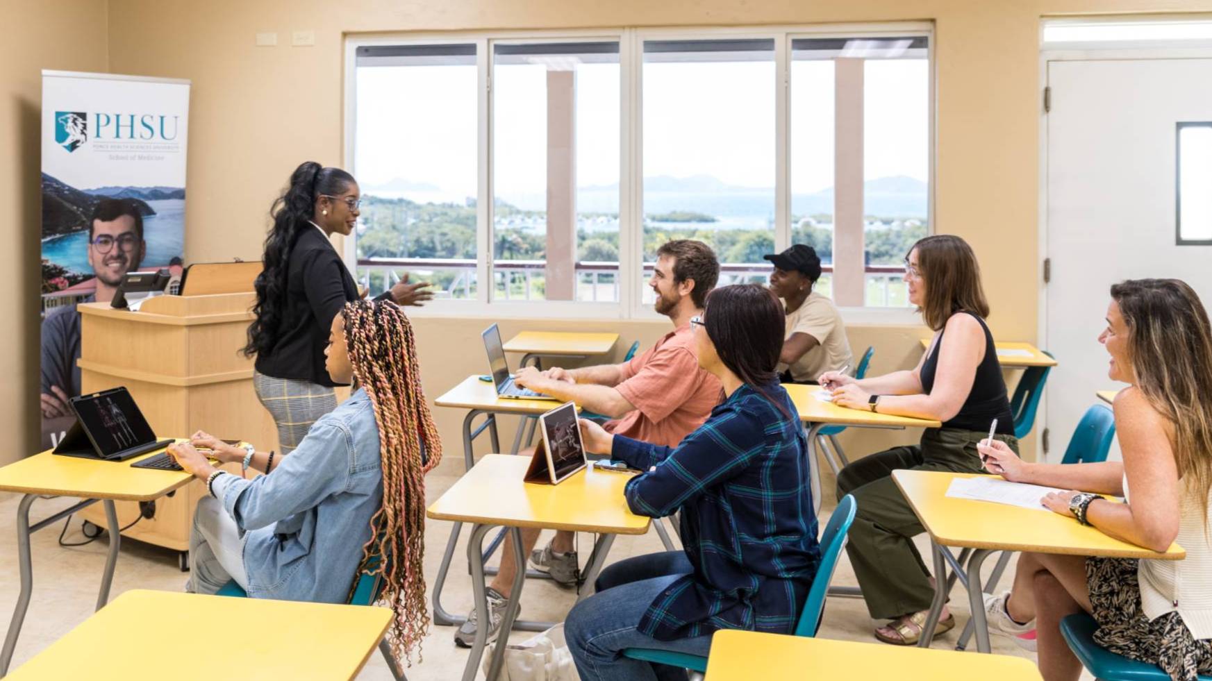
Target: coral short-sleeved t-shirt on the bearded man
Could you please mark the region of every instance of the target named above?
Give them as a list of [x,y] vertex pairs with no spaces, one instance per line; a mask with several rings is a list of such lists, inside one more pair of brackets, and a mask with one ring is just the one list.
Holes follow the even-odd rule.
[[720,402],[720,379],[698,366],[690,325],[670,331],[648,351],[623,365],[616,385],[635,411],[606,424],[606,430],[634,440],[676,447]]

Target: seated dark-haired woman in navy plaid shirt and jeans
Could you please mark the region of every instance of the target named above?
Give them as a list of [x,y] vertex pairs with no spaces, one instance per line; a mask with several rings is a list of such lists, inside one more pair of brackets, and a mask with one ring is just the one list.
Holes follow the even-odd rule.
[[583,681],[682,674],[623,658],[624,648],[707,656],[716,629],[790,634],[821,563],[804,433],[774,371],[782,305],[762,286],[726,286],[691,326],[699,366],[724,385],[707,423],[670,448],[581,422],[588,452],[646,471],[625,487],[633,513],[681,510],[684,546],[607,567],[568,613]]

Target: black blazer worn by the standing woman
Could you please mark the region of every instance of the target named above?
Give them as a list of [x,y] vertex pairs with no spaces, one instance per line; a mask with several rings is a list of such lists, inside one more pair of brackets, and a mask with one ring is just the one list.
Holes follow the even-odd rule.
[[274,378],[341,385],[324,368],[332,317],[345,303],[358,299],[354,277],[320,229],[303,227],[286,254],[286,301],[281,324],[268,353],[257,355],[257,371]]

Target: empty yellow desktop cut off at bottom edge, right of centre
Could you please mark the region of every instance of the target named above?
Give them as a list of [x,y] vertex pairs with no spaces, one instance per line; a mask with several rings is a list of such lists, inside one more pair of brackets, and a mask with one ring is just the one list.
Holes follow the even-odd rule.
[[965,656],[882,643],[856,643],[725,629],[711,637],[707,681],[790,681],[793,679],[897,679],[939,681],[1040,681],[1025,658]]

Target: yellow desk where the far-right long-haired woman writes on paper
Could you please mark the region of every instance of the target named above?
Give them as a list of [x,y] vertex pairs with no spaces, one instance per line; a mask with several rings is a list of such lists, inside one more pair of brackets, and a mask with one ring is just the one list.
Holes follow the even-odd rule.
[[[995,551],[1036,551],[1077,556],[1108,556],[1128,559],[1182,560],[1187,551],[1173,544],[1166,553],[1128,544],[1103,534],[1098,530],[1079,525],[1071,517],[1046,509],[1033,510],[993,502],[957,499],[947,496],[947,488],[955,477],[977,477],[973,474],[938,473],[926,470],[894,470],[892,480],[905,496],[914,514],[930,533],[934,554],[934,602],[926,619],[919,645],[928,647],[934,625],[943,611],[950,565],[955,574],[967,586],[972,607],[972,623],[977,636],[977,649],[989,652],[989,629],[984,616],[981,565]],[[989,476],[997,477],[997,476]],[[960,546],[971,556],[965,565],[964,554],[956,559],[948,546]]]

